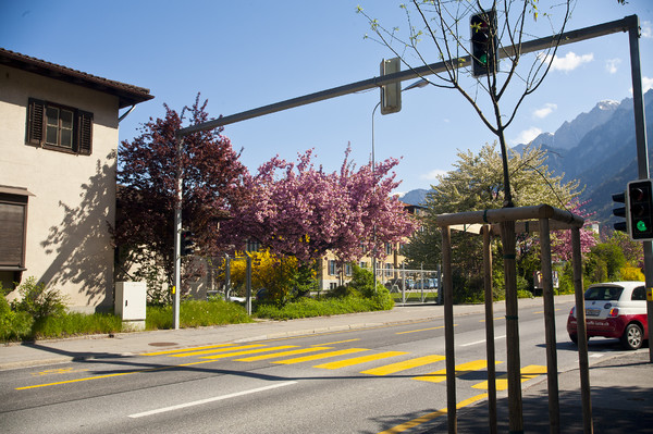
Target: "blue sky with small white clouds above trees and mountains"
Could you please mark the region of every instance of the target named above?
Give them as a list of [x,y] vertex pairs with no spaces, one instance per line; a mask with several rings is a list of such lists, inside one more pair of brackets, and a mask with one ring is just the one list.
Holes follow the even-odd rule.
[[[393,54],[364,38],[370,29],[358,4],[389,27],[406,24],[399,2],[386,0],[0,0],[0,47],[149,88],[156,98],[120,124],[124,140],[162,116],[163,103],[181,110],[197,92],[217,117],[378,76],[381,59]],[[568,29],[631,14],[642,23],[642,74],[651,87],[653,2],[579,0]],[[623,33],[562,47],[557,67],[507,129],[509,145],[555,132],[601,100],[630,97],[628,53]],[[361,165],[370,158],[378,101],[378,90],[349,95],[229,125],[224,135],[244,148],[251,172],[275,154],[294,160],[309,148],[334,171],[348,142]],[[453,169],[458,149],[494,141],[459,94],[433,86],[405,92],[399,113],[377,112],[374,136],[377,160],[402,158],[398,191],[428,188],[433,174]]]

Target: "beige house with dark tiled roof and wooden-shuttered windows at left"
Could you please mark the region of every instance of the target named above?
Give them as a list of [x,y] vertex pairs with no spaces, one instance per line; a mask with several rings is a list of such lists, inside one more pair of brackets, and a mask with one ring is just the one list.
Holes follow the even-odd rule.
[[0,49],[3,287],[34,276],[75,310],[113,306],[119,110],[151,98],[148,89]]

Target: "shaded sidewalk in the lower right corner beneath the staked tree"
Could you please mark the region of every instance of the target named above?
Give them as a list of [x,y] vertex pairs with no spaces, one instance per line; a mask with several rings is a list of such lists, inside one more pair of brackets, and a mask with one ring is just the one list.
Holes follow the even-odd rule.
[[[653,364],[649,349],[627,352],[590,367],[592,422],[596,434],[653,433]],[[578,369],[558,374],[560,433],[583,433]],[[523,432],[549,434],[546,377],[522,390]],[[509,432],[508,399],[497,399],[500,433]],[[458,410],[458,433],[488,432],[488,402]],[[446,426],[440,421],[434,431]],[[444,429],[446,430],[446,429]]]

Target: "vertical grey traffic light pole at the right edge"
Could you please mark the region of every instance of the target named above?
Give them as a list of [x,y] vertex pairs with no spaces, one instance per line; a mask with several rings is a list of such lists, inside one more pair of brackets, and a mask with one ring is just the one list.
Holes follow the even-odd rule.
[[[644,96],[642,90],[642,69],[640,63],[640,26],[637,16],[628,27],[630,42],[630,71],[632,74],[632,102],[634,104],[634,134],[637,140],[637,165],[640,179],[646,179],[649,175],[649,146],[646,144],[646,122],[644,115]],[[646,284],[646,313],[649,317],[649,335],[653,331],[653,243],[643,241],[644,249],[644,275]],[[649,336],[650,337],[650,336]],[[650,339],[649,339],[650,342]],[[649,359],[653,362],[653,346],[649,345]]]

